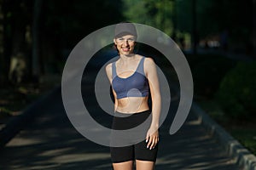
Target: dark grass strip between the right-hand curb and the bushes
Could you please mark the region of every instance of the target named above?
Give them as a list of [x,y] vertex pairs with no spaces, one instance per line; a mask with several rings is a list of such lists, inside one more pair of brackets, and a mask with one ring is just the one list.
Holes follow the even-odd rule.
[[256,155],[256,124],[251,120],[234,120],[225,116],[224,111],[215,100],[198,101],[202,109],[207,112],[213,120],[218,122],[224,129],[237,139],[247,150]]

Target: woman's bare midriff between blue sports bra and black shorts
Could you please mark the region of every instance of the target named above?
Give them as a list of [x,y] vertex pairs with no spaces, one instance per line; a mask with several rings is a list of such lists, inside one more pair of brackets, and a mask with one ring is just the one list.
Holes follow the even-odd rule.
[[116,111],[121,113],[138,113],[148,111],[148,97],[127,97],[117,100]]

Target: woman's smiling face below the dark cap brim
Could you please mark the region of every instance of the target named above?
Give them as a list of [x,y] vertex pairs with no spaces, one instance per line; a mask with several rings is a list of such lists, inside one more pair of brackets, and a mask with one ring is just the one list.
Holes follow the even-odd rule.
[[133,54],[135,46],[135,37],[132,35],[126,35],[123,37],[117,37],[113,39],[114,44],[119,50],[119,54]]

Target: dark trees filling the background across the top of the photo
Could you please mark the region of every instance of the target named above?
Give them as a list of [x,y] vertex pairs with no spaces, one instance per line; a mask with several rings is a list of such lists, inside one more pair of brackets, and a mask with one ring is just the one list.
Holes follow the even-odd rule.
[[235,50],[255,53],[255,8],[256,0],[0,0],[0,82],[60,72],[77,42],[121,20],[192,42],[226,31]]

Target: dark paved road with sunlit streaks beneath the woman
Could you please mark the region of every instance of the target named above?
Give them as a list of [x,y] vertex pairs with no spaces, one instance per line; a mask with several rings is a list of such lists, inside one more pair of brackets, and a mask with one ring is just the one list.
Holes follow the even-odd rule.
[[[61,89],[55,90],[42,105],[36,111],[35,120],[28,122],[1,150],[1,170],[112,168],[108,147],[85,139],[69,122]],[[156,169],[239,169],[193,114],[189,114],[183,127],[172,136],[168,133],[171,117],[167,117],[160,130]]]

